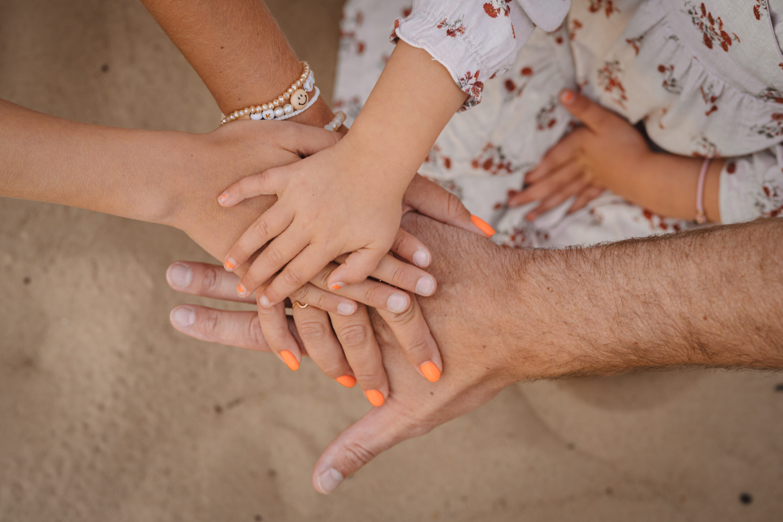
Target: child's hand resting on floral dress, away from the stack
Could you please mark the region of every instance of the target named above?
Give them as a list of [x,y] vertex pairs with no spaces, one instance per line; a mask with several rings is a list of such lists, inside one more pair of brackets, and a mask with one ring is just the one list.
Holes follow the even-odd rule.
[[552,147],[541,163],[525,176],[525,187],[508,199],[511,207],[540,201],[526,216],[529,221],[557,207],[569,197],[576,200],[568,214],[578,211],[604,189],[618,192],[623,178],[633,175],[652,153],[644,137],[609,110],[576,92],[561,92],[560,102],[579,118],[577,128]]

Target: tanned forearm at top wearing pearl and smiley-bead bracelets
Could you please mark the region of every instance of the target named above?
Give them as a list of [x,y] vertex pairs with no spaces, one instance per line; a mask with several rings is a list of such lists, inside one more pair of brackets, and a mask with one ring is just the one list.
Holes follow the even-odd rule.
[[[142,3],[182,51],[224,113],[276,98],[301,74],[294,49],[261,0]],[[313,70],[317,85],[317,67]],[[331,118],[327,103],[319,99],[291,120],[321,126]]]

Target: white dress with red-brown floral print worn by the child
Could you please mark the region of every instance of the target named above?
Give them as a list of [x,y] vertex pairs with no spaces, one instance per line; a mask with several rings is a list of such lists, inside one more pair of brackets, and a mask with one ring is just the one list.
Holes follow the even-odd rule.
[[[783,0],[349,0],[341,25],[335,105],[348,123],[400,38],[428,50],[470,95],[420,173],[460,196],[514,246],[557,247],[695,226],[604,192],[525,221],[509,208],[575,124],[557,104],[579,88],[642,122],[669,153],[727,157],[723,222],[783,214]],[[565,16],[565,19],[564,19]],[[535,24],[535,25],[534,25]],[[544,31],[547,29],[550,32]],[[416,110],[415,103],[410,110]],[[534,204],[534,203],[533,203]]]

